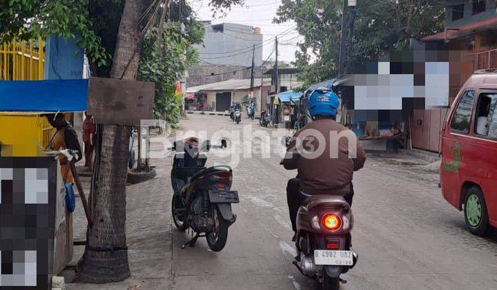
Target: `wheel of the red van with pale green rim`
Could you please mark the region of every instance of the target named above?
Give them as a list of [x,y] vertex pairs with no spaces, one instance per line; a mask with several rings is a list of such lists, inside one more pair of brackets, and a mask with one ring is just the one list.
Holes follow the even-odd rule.
[[488,232],[489,221],[485,198],[476,186],[467,191],[464,213],[466,226],[471,233],[483,236]]

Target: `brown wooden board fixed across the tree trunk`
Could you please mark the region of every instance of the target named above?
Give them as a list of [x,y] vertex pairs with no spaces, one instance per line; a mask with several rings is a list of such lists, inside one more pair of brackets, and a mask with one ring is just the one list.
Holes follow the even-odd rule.
[[152,117],[154,95],[154,83],[92,77],[88,113],[96,124],[139,126]]

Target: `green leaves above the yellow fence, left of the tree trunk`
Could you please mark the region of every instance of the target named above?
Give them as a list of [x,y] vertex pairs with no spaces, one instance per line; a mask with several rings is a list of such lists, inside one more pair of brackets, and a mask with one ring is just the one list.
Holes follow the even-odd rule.
[[0,6],[1,40],[78,35],[78,43],[91,56],[90,61],[104,66],[110,59],[92,29],[88,0],[2,0]]

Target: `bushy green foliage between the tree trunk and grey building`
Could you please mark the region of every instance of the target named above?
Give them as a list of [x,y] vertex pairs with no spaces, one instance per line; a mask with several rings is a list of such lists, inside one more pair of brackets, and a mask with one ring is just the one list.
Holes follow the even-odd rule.
[[165,23],[163,29],[162,37],[155,32],[144,37],[137,79],[155,82],[154,115],[176,124],[182,95],[175,93],[175,84],[189,66],[197,64],[198,54],[193,44],[202,42],[204,27],[191,19],[186,25]]

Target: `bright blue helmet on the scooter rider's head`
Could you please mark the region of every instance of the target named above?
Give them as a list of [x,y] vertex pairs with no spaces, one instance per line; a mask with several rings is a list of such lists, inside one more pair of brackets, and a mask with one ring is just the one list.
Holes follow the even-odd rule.
[[338,104],[338,96],[328,88],[314,90],[307,100],[307,107],[312,117],[319,115],[336,117]]

